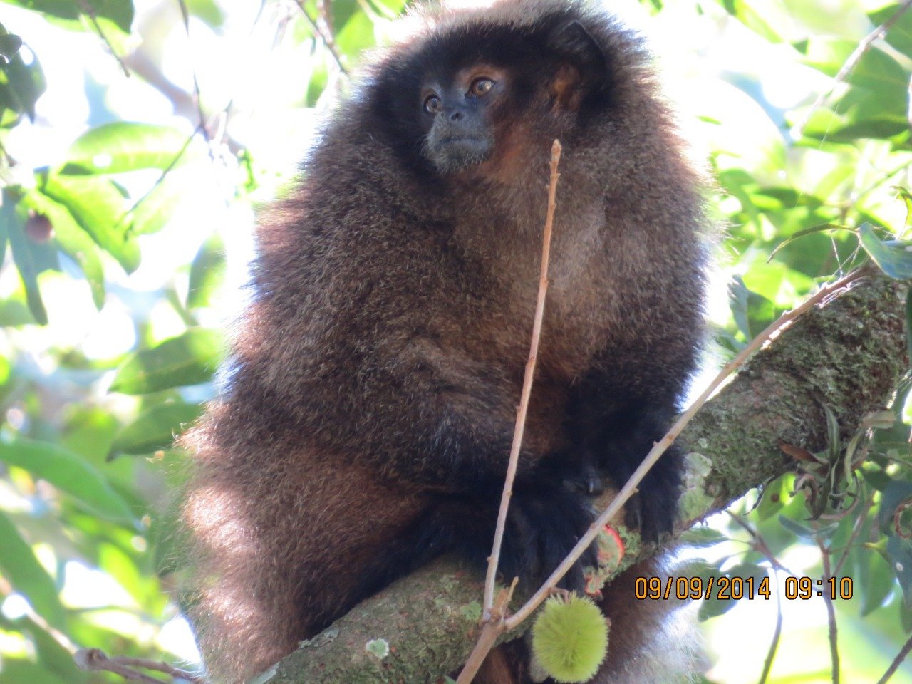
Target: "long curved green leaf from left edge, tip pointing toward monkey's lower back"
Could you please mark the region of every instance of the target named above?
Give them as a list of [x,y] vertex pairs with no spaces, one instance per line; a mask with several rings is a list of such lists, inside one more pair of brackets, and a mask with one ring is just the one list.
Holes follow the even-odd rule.
[[118,523],[131,523],[130,506],[108,479],[78,454],[46,441],[0,443],[0,461],[31,472],[84,504],[92,513]]

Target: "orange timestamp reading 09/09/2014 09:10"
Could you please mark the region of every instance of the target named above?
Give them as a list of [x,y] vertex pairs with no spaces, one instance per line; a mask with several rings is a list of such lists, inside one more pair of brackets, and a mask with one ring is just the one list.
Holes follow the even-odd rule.
[[[789,600],[808,600],[814,596],[828,596],[835,600],[852,598],[853,586],[851,577],[828,577],[814,579],[814,577],[785,578],[782,596]],[[640,600],[668,600],[676,598],[716,598],[721,601],[741,598],[763,598],[769,600],[772,595],[770,578],[767,577],[739,577],[720,575],[719,577],[637,577],[634,586],[634,595]]]

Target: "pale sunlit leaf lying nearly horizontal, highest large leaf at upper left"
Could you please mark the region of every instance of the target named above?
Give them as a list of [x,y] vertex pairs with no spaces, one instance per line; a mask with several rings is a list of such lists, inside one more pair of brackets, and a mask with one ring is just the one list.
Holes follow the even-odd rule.
[[80,135],[67,150],[64,174],[168,169],[180,161],[191,137],[170,126],[115,121]]

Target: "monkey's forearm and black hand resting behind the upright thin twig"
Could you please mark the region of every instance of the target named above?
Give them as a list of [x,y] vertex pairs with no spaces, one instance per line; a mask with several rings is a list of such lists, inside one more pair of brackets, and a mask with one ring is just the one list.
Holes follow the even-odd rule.
[[[435,492],[416,532],[416,553],[455,549],[483,562],[513,440],[518,384],[496,365],[423,336],[378,348],[365,361],[360,383],[363,410],[355,431],[367,440],[364,458],[397,482]],[[550,573],[592,519],[581,492],[568,490],[542,466],[554,435],[530,432],[513,487],[502,564],[506,576],[527,582]],[[583,585],[582,568],[595,565],[594,553],[586,554],[564,586]]]

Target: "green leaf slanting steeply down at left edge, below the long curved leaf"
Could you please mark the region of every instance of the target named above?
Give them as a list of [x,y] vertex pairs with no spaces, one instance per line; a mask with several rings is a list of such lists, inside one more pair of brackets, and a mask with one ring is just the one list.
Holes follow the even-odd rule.
[[41,617],[54,627],[63,627],[64,609],[57,596],[57,586],[38,563],[32,547],[22,538],[16,525],[0,511],[0,573],[13,588],[25,595]]

